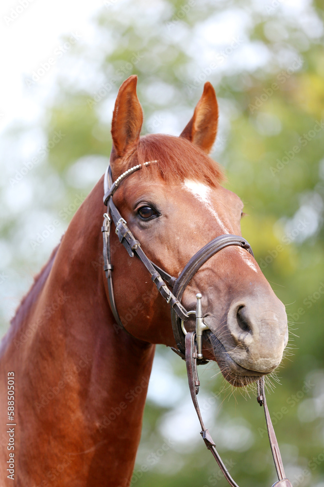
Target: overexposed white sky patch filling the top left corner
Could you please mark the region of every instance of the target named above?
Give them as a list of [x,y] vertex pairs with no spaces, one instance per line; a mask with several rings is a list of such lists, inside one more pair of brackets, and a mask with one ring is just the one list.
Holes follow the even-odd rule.
[[[58,58],[61,37],[91,37],[93,18],[103,0],[3,0],[0,5],[0,131],[28,116],[25,78],[50,57]],[[64,48],[63,48],[64,49]],[[55,54],[56,53],[56,54]],[[51,66],[51,70],[52,70]],[[54,70],[53,70],[54,71]],[[44,78],[48,75],[46,73]],[[47,76],[48,77],[48,76]],[[48,83],[44,90],[48,91]],[[44,93],[46,96],[46,93]],[[25,106],[25,109],[24,109]]]

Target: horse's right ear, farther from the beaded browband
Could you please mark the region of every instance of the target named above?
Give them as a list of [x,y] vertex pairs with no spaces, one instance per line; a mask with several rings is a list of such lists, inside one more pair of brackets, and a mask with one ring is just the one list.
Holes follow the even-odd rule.
[[190,140],[207,154],[211,151],[216,139],[218,126],[218,104],[215,90],[207,81],[204,93],[200,98],[193,117],[180,137]]

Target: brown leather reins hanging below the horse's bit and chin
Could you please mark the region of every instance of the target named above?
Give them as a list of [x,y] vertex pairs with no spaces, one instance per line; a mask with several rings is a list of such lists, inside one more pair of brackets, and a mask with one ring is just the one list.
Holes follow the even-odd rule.
[[[225,467],[224,463],[222,462],[222,458],[220,457],[218,451],[216,450],[216,445],[214,440],[212,439],[208,429],[205,427],[198,400],[197,400],[197,394],[199,392],[199,386],[200,386],[200,381],[198,378],[198,372],[197,372],[197,348],[195,344],[195,332],[189,332],[187,333],[185,337],[185,346],[186,346],[186,367],[187,367],[187,375],[188,375],[188,384],[189,384],[189,390],[190,390],[190,395],[191,399],[194,405],[194,408],[196,410],[200,426],[202,428],[201,435],[203,437],[203,440],[205,442],[205,445],[208,450],[210,450],[218,463],[219,467],[222,470],[222,473],[224,474],[226,480],[232,487],[238,487],[238,484],[233,480],[231,477],[230,473],[228,472],[227,468]],[[267,401],[266,401],[266,396],[264,392],[264,377],[261,377],[258,380],[257,383],[258,387],[258,396],[257,396],[257,401],[260,404],[260,406],[263,405],[264,407],[264,412],[265,412],[265,417],[266,417],[266,423],[267,423],[267,430],[268,430],[268,435],[269,435],[269,440],[270,440],[270,446],[271,446],[271,451],[273,453],[273,460],[274,460],[274,465],[277,471],[278,479],[279,481],[273,484],[273,487],[292,487],[290,480],[288,480],[285,476],[285,470],[282,464],[281,460],[281,455],[279,451],[279,446],[278,442],[273,430],[273,424],[271,421],[270,413],[268,410],[267,406]]]

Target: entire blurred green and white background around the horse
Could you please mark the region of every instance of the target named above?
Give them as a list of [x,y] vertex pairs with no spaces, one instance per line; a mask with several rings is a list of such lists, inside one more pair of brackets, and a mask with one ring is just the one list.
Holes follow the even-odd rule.
[[[1,335],[107,166],[121,82],[138,75],[143,133],[178,135],[211,81],[212,157],[245,203],[242,234],[289,315],[290,349],[268,403],[294,487],[324,486],[323,22],[323,1],[311,0],[1,6]],[[232,390],[215,364],[200,376],[205,422],[231,474],[272,485],[255,393]],[[184,363],[165,347],[132,485],[227,485],[200,437]]]

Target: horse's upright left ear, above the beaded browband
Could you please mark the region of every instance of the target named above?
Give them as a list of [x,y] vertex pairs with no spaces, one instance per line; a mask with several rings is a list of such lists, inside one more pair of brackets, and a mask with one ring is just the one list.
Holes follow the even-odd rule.
[[136,84],[137,76],[132,75],[119,88],[111,123],[113,138],[111,163],[131,150],[139,141],[143,111],[137,98]]

